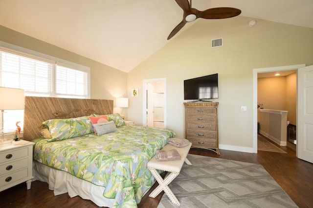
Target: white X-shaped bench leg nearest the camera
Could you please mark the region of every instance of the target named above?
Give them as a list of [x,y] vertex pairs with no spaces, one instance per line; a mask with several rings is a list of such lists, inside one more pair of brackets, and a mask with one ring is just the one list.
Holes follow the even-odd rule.
[[160,174],[156,171],[154,168],[149,168],[153,176],[156,178],[156,181],[158,182],[158,186],[156,189],[154,189],[149,197],[156,198],[156,196],[164,190],[165,194],[168,196],[168,198],[171,200],[173,204],[176,204],[180,206],[180,203],[176,196],[174,195],[173,191],[168,187],[168,185],[179,175],[179,172],[169,172],[170,174],[166,174],[164,180],[160,176]]

